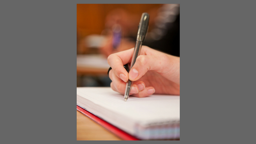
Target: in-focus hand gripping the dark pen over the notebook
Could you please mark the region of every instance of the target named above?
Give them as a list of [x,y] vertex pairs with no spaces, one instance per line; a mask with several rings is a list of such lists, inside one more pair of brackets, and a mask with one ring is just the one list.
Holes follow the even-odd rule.
[[129,74],[123,65],[131,63],[134,48],[108,56],[112,67],[111,88],[124,94],[126,82],[134,81],[130,95],[145,97],[155,94],[180,95],[180,58],[142,46]]

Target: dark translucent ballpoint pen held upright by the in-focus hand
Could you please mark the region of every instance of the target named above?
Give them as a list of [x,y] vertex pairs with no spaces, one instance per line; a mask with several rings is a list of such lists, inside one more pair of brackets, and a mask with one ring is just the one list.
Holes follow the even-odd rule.
[[[149,14],[144,12],[139,21],[139,30],[137,33],[137,39],[136,39],[136,44],[134,47],[133,59],[132,59],[130,69],[132,69],[137,57],[140,54],[140,49],[141,49],[142,43],[145,40],[147,31],[148,31],[148,27],[149,27]],[[130,95],[132,86],[133,86],[133,81],[128,80],[128,82],[126,83],[126,88],[125,88],[125,93],[124,93],[124,101],[127,101],[128,97]]]

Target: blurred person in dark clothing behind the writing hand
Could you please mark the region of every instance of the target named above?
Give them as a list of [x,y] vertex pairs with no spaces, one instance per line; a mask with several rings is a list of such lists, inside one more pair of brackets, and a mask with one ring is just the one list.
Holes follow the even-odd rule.
[[[179,7],[179,4],[164,4],[159,9],[149,11],[149,27],[154,25],[154,28],[148,32],[143,45],[167,54],[180,56]],[[113,42],[115,42],[113,31],[108,31],[107,41],[100,48],[101,53],[107,57],[111,53],[133,48],[135,46],[140,17],[141,15],[131,15],[122,9],[110,12],[106,18],[106,28],[112,29],[116,24],[120,25],[123,38],[119,46],[113,48]]]

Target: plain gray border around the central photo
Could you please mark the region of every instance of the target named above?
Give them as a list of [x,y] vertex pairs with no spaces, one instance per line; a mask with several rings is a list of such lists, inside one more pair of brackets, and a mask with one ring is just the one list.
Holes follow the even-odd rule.
[[[0,2],[1,141],[84,143],[76,141],[76,3],[84,1]],[[181,3],[180,142],[250,141],[253,4],[157,3]]]

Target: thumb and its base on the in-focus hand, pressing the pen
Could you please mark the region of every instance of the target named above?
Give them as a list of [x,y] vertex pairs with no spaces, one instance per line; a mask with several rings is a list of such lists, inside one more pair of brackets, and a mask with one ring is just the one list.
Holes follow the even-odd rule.
[[[170,58],[166,54],[160,55],[140,55],[129,71],[129,80],[139,80],[149,70],[164,74],[170,71]],[[164,76],[164,75],[163,75]]]

